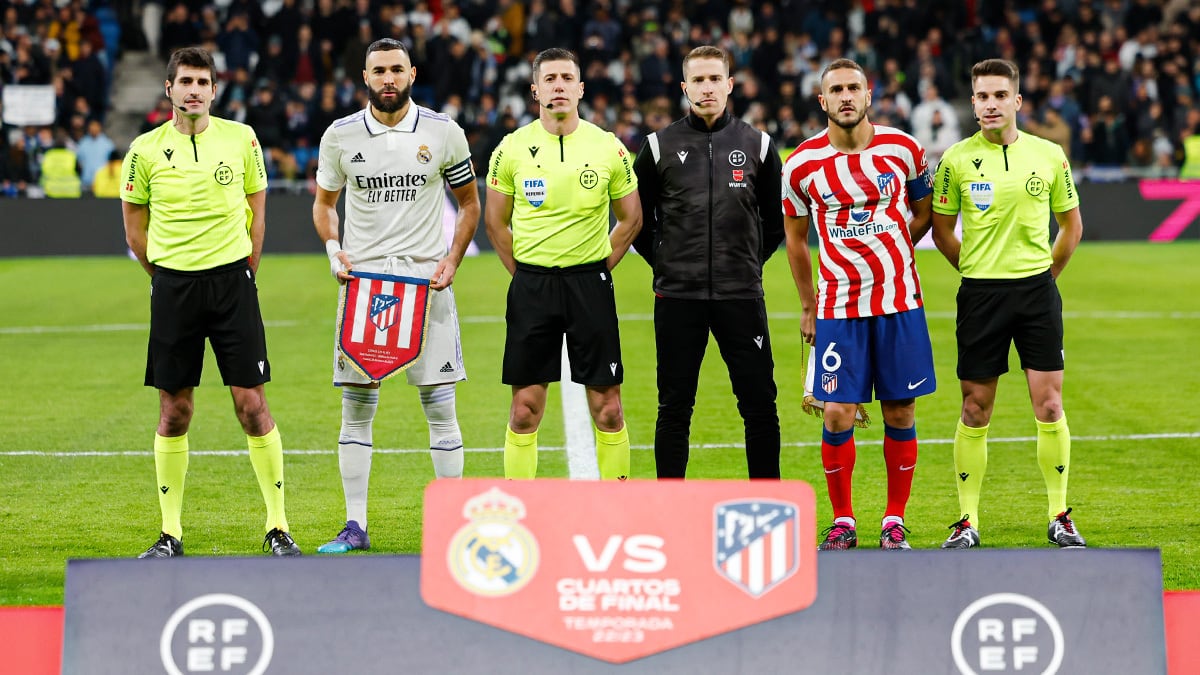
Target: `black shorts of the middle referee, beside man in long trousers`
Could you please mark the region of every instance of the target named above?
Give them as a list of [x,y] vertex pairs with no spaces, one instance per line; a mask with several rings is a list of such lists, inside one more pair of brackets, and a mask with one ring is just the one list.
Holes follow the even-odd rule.
[[623,381],[617,300],[605,261],[568,268],[517,263],[504,318],[505,384],[558,382],[563,335],[572,381],[590,387]]

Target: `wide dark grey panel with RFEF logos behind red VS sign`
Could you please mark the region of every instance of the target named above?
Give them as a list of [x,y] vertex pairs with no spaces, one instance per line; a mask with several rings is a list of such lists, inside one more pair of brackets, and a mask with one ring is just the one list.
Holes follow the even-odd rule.
[[1166,669],[1157,550],[845,551],[806,610],[623,665],[428,608],[418,556],[72,560],[62,671]]

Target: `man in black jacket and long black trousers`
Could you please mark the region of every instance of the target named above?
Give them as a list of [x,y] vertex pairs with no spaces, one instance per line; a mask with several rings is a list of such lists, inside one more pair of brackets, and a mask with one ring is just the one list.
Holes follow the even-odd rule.
[[683,62],[691,112],[646,138],[634,171],[642,231],[634,245],[654,268],[659,478],[683,478],[708,334],[730,371],[745,423],[750,478],[779,478],[774,360],[762,265],[784,239],[782,162],[770,137],[727,109],[733,79],[716,47]]

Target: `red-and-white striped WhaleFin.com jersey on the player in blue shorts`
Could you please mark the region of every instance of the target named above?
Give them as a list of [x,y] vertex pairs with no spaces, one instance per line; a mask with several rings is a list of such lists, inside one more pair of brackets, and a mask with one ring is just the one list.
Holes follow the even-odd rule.
[[916,138],[875,125],[854,154],[828,130],[784,162],[784,214],[809,216],[820,241],[818,318],[858,318],[922,306],[908,221],[911,203],[932,193],[925,150]]

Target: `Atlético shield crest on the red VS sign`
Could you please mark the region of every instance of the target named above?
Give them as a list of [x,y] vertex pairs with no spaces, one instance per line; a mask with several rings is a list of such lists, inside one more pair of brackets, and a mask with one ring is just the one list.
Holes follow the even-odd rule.
[[796,504],[748,500],[716,504],[713,524],[716,571],[752,597],[762,596],[799,567],[800,525]]

